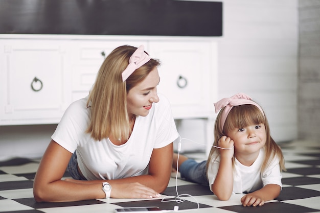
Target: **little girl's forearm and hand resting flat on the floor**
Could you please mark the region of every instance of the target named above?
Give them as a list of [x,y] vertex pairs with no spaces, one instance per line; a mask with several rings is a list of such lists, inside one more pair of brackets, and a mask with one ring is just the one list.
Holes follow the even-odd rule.
[[277,198],[280,195],[281,187],[277,184],[267,184],[261,190],[249,193],[241,198],[243,206],[262,206],[265,201]]

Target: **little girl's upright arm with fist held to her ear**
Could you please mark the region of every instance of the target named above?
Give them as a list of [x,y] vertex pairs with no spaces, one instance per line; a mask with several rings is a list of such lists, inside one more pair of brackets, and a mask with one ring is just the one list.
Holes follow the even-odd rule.
[[[234,142],[230,137],[222,136],[218,145],[221,148],[232,148]],[[220,151],[220,164],[217,176],[212,184],[212,192],[218,197],[219,200],[230,199],[233,191],[233,169],[232,158],[234,155],[234,149]]]

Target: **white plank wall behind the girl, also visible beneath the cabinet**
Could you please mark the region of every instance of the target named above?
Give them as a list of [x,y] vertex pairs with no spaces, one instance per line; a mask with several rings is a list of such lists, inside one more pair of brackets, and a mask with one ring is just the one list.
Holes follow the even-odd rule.
[[[218,98],[249,94],[268,116],[277,141],[297,137],[298,0],[224,0],[223,36],[218,41]],[[216,100],[218,101],[218,100]],[[0,156],[39,155],[54,126],[0,127]],[[181,137],[203,143],[201,121],[179,125]],[[10,142],[8,142],[10,141]],[[12,146],[11,146],[12,145]],[[205,150],[186,142],[182,150]]]

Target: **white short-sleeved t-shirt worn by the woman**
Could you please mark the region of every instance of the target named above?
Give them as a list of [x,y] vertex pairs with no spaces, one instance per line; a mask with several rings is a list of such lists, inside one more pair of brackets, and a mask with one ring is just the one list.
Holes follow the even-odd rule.
[[52,139],[71,153],[77,151],[78,165],[87,180],[120,179],[148,174],[153,149],[172,143],[178,133],[169,101],[158,94],[147,116],[137,116],[127,143],[116,146],[108,138],[97,141],[85,133],[90,107],[87,99],[72,103],[65,111]]

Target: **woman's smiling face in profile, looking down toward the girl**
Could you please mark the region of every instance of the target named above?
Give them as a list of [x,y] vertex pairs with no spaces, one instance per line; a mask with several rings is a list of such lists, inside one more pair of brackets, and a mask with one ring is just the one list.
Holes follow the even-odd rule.
[[140,116],[147,116],[149,114],[152,103],[159,101],[156,90],[159,81],[158,69],[155,67],[142,82],[129,90],[127,94],[129,117],[132,117],[133,114]]

